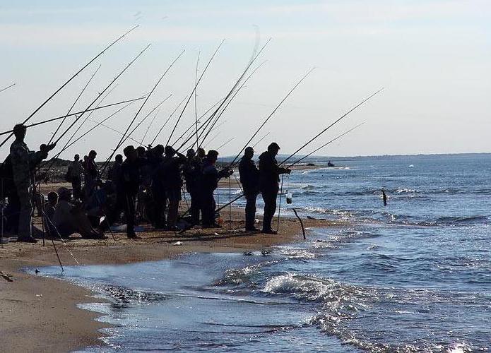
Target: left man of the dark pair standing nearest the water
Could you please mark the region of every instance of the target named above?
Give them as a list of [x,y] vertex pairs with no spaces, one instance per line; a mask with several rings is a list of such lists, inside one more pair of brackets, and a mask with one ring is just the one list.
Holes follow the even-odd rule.
[[259,229],[254,227],[254,220],[256,218],[256,198],[259,193],[259,169],[254,164],[252,157],[254,157],[254,149],[246,148],[239,163],[239,174],[246,198],[246,231],[257,232]]

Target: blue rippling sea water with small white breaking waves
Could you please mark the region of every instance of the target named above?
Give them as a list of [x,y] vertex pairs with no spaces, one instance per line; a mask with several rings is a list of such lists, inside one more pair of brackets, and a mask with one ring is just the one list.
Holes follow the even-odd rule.
[[489,350],[491,155],[333,162],[284,179],[282,212],[345,221],[307,241],[42,274],[109,299],[83,305],[115,325],[88,352]]

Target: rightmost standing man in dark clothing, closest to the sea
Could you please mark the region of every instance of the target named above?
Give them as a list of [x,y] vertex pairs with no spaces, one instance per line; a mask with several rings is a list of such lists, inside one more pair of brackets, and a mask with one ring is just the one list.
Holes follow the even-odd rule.
[[263,233],[277,234],[271,228],[271,221],[276,212],[276,196],[278,196],[280,174],[290,174],[290,169],[281,168],[276,161],[280,150],[278,143],[268,145],[268,150],[259,156],[259,189],[264,200]]

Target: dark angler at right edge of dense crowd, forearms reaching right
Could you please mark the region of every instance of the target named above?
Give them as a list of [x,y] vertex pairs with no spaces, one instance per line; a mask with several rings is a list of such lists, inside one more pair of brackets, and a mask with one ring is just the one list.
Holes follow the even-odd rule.
[[201,215],[203,215],[203,228],[220,227],[215,223],[215,198],[213,192],[218,188],[218,181],[221,178],[230,177],[233,174],[232,169],[225,168],[218,170],[215,162],[218,159],[218,152],[209,150],[206,159],[203,162],[203,174],[201,178]]

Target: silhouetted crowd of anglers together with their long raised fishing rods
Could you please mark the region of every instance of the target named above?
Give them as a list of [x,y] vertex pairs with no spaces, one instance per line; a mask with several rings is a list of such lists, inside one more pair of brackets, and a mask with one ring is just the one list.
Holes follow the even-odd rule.
[[[213,61],[215,54],[217,54],[218,50],[222,46],[223,41],[220,43],[220,45],[218,45],[217,49],[215,49],[215,52],[213,52],[208,63],[203,68],[201,76],[199,77],[198,63],[196,64],[194,88],[191,91],[191,94],[184,97],[184,100],[182,100],[182,102],[179,103],[179,105],[174,109],[174,112],[176,112],[181,104],[186,100],[177,121],[175,122],[173,128],[170,129],[170,136],[165,145],[155,145],[155,147],[145,148],[142,146],[142,142],[140,143],[139,147],[135,148],[133,145],[126,145],[125,141],[128,138],[131,138],[131,133],[133,133],[155,109],[158,109],[160,104],[167,100],[168,97],[165,98],[165,100],[162,100],[157,107],[154,107],[143,119],[141,119],[141,121],[136,123],[137,117],[142,112],[143,107],[145,107],[146,103],[150,99],[150,96],[153,95],[153,92],[155,92],[156,88],[167,72],[170,71],[176,61],[182,56],[184,50],[177,55],[170,66],[168,66],[168,68],[162,73],[148,94],[132,100],[124,100],[122,102],[106,105],[101,104],[102,100],[104,100],[105,97],[107,97],[107,95],[109,95],[114,89],[112,86],[114,86],[116,80],[118,80],[128,70],[128,68],[134,64],[134,62],[138,60],[138,58],[144,52],[146,52],[148,47],[150,47],[150,44],[148,44],[141,52],[138,53],[138,55],[134,57],[133,60],[129,62],[129,64],[124,66],[124,68],[119,71],[119,73],[114,76],[112,80],[110,80],[110,83],[106,85],[104,89],[100,90],[97,97],[95,97],[95,99],[92,100],[92,102],[90,102],[90,104],[83,109],[83,111],[72,112],[72,109],[78,102],[81,95],[83,95],[85,88],[88,87],[90,81],[93,79],[100,66],[97,68],[97,70],[95,70],[93,75],[85,84],[83,90],[80,92],[75,102],[73,102],[71,105],[69,112],[67,112],[64,116],[39,121],[29,125],[26,124],[32,118],[32,116],[35,116],[35,114],[37,114],[37,112],[39,112],[40,109],[45,106],[45,104],[50,102],[58,92],[63,90],[66,85],[71,82],[71,80],[76,78],[82,71],[85,70],[85,68],[90,66],[90,64],[102,56],[102,54],[104,54],[114,44],[122,40],[122,38],[124,38],[126,35],[129,35],[129,33],[136,28],[138,28],[138,26],[135,26],[134,28],[131,28],[131,30],[125,32],[122,36],[118,37],[107,47],[105,47],[105,49],[90,59],[90,61],[88,61],[82,68],[74,73],[73,76],[66,80],[66,82],[63,83],[63,85],[61,85],[54,93],[52,93],[52,95],[50,95],[45,102],[42,102],[42,104],[40,104],[40,106],[37,107],[35,111],[22,122],[22,124],[17,124],[11,131],[4,131],[3,133],[0,133],[0,135],[8,134],[6,139],[0,143],[0,148],[8,141],[9,138],[11,138],[11,136],[15,136],[16,138],[16,140],[11,144],[10,154],[4,163],[1,164],[0,170],[2,237],[4,232],[7,232],[9,234],[17,234],[19,241],[35,242],[35,237],[33,237],[32,234],[32,205],[37,206],[38,214],[42,215],[43,217],[42,227],[44,227],[50,234],[54,234],[55,236],[58,235],[59,237],[66,237],[74,232],[78,232],[82,235],[82,237],[87,238],[99,239],[105,237],[104,233],[107,232],[107,229],[111,230],[112,225],[122,221],[120,219],[121,215],[124,215],[124,221],[126,222],[127,226],[127,235],[132,239],[137,237],[135,232],[136,222],[141,222],[142,220],[148,220],[148,222],[151,222],[155,229],[165,229],[170,231],[178,231],[179,225],[184,228],[186,227],[182,226],[182,222],[179,222],[179,220],[187,220],[187,224],[191,225],[191,227],[200,224],[202,227],[218,227],[215,220],[221,208],[216,208],[213,192],[218,188],[218,181],[221,178],[230,178],[230,176],[233,174],[232,168],[235,167],[237,163],[239,164],[240,182],[243,186],[243,193],[237,196],[237,198],[232,200],[230,203],[238,200],[242,196],[246,198],[247,205],[245,210],[245,229],[247,231],[256,232],[259,230],[256,229],[254,225],[256,198],[259,193],[261,193],[264,200],[264,220],[263,228],[261,230],[264,233],[275,233],[276,231],[271,228],[271,221],[273,219],[273,215],[276,213],[276,198],[278,196],[278,191],[280,191],[281,187],[283,186],[283,177],[281,187],[279,184],[280,175],[289,174],[290,167],[292,167],[292,165],[297,164],[304,158],[312,155],[312,153],[324,148],[326,145],[329,145],[329,143],[341,138],[341,136],[353,131],[353,129],[360,125],[355,126],[355,128],[351,128],[340,136],[330,140],[328,143],[324,143],[324,145],[321,145],[308,155],[300,158],[300,160],[290,162],[288,165],[285,163],[295,154],[306,148],[307,145],[310,145],[314,140],[317,140],[317,138],[326,133],[326,131],[328,131],[332,126],[338,124],[339,121],[344,119],[345,116],[348,116],[348,114],[357,109],[357,107],[360,107],[362,104],[374,97],[374,95],[381,92],[381,90],[377,90],[377,92],[374,92],[365,100],[355,105],[355,107],[333,121],[333,123],[329,124],[329,126],[326,126],[326,128],[323,128],[319,133],[317,133],[317,135],[310,138],[307,143],[304,143],[300,148],[295,150],[290,157],[286,158],[279,164],[276,161],[276,155],[278,154],[280,148],[278,144],[271,143],[268,146],[268,150],[259,156],[259,165],[256,166],[252,159],[254,157],[254,149],[253,147],[250,147],[253,138],[256,137],[261,128],[265,126],[265,124],[277,112],[285,100],[288,99],[297,86],[300,85],[300,83],[302,83],[302,81],[307,78],[310,73],[312,73],[314,70],[314,68],[312,68],[306,74],[304,74],[304,76],[302,76],[302,78],[300,78],[300,80],[298,80],[290,90],[288,90],[286,95],[276,105],[271,114],[269,114],[266,119],[262,121],[259,128],[256,129],[252,137],[249,138],[247,143],[245,143],[244,147],[239,151],[234,160],[232,160],[227,167],[218,170],[215,166],[218,159],[218,152],[216,150],[208,150],[206,153],[202,148],[200,148],[200,146],[203,144],[204,140],[208,138],[211,131],[219,126],[219,124],[217,125],[218,120],[221,116],[223,116],[223,113],[229,106],[230,102],[232,102],[239,91],[244,88],[247,80],[249,80],[249,78],[251,78],[262,66],[262,64],[259,64],[259,66],[253,70],[251,69],[252,65],[264,51],[264,48],[271,39],[268,40],[266,44],[261,47],[261,49],[254,49],[254,54],[249,60],[246,68],[244,68],[242,74],[235,81],[232,88],[229,90],[229,92],[227,92],[227,95],[225,95],[223,99],[215,103],[199,119],[198,114],[195,111],[194,124],[192,124],[184,132],[184,134],[188,133],[191,128],[196,128],[197,150],[195,151],[192,149],[194,147],[193,144],[190,147],[191,149],[187,150],[186,155],[182,155],[179,150],[184,148],[184,145],[187,144],[189,140],[194,139],[194,133],[191,133],[191,135],[189,135],[187,139],[176,148],[172,147],[173,144],[170,142],[170,139],[172,138],[174,131],[176,131],[177,125],[179,124],[179,121],[181,121],[191,97],[193,96],[196,106],[196,88],[201,82],[201,79],[203,78],[208,66],[211,64],[211,61]],[[248,73],[249,75],[247,76]],[[44,198],[40,195],[39,187],[36,187],[35,175],[37,172],[40,172],[41,162],[47,158],[49,151],[55,148],[57,143],[64,138],[66,133],[68,133],[71,128],[73,128],[73,126],[75,126],[75,124],[81,120],[82,116],[84,116],[84,119],[81,120],[81,124],[78,126],[78,128],[76,128],[76,131],[73,132],[71,138],[69,138],[64,147],[55,157],[58,157],[61,152],[64,152],[64,150],[83,138],[83,136],[86,136],[88,133],[90,133],[90,131],[93,131],[94,128],[100,126],[100,124],[102,124],[104,121],[110,119],[111,116],[114,116],[125,107],[128,107],[130,104],[133,104],[139,100],[143,100],[143,102],[138,108],[138,112],[136,112],[133,119],[131,119],[130,124],[126,127],[126,131],[122,133],[122,138],[119,140],[116,147],[112,149],[110,157],[102,165],[102,167],[98,168],[97,164],[95,163],[97,153],[94,150],[90,151],[88,155],[83,158],[83,161],[81,161],[77,155],[71,163],[69,172],[66,173],[66,180],[71,181],[72,183],[71,190],[59,188],[57,193],[49,193],[47,196],[48,201],[43,205]],[[73,140],[78,130],[85,123],[85,121],[89,119],[90,114],[92,114],[93,111],[106,107],[112,107],[117,104],[126,105]],[[169,121],[174,112],[172,112],[167,121]],[[209,116],[205,118],[208,112],[210,112]],[[85,114],[87,115],[85,116]],[[61,126],[69,117],[75,117],[75,119],[69,123],[68,128],[65,128],[65,130],[61,132]],[[59,119],[61,119],[61,123],[52,134],[49,142],[41,145],[40,150],[37,152],[29,150],[28,146],[24,142],[27,128],[38,126],[40,124],[47,124]],[[167,124],[167,121],[165,124]],[[150,145],[154,144],[165,124],[162,125],[157,136],[155,136]],[[59,131],[61,133],[59,136],[57,136]],[[55,136],[57,136],[56,140],[54,140]],[[181,136],[181,138],[183,136]],[[143,138],[145,138],[145,136]],[[131,138],[131,140],[134,140],[134,138]],[[174,142],[174,144],[176,143],[177,141]],[[126,145],[126,147],[123,149],[124,157],[123,155],[116,155],[114,157],[116,151],[123,148],[124,145]],[[243,155],[242,152],[244,152]],[[114,157],[113,162],[111,162],[112,157]],[[48,169],[52,167],[52,165],[53,162]],[[285,165],[285,167],[282,167],[282,165]],[[107,167],[110,167],[110,169],[107,170]],[[107,174],[105,172],[107,172]],[[102,178],[106,180],[102,181]],[[40,184],[37,184],[37,186],[39,185]],[[189,210],[187,210],[186,213],[179,215],[179,202],[181,201],[182,195],[186,195],[186,193],[182,192],[183,188],[185,191],[187,191],[187,193],[189,193],[191,203],[189,205]]]

